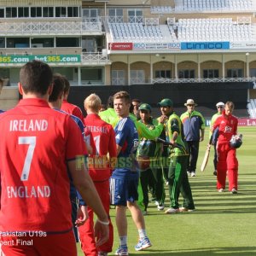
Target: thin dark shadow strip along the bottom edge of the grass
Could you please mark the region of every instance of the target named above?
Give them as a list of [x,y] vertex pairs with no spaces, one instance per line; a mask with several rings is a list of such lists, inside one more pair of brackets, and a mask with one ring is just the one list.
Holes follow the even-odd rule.
[[256,247],[216,247],[216,248],[198,248],[194,250],[183,250],[183,251],[166,251],[166,250],[158,250],[154,251],[154,249],[148,249],[147,251],[141,251],[139,253],[129,253],[129,255],[177,255],[177,256],[211,256],[211,255],[255,255]]

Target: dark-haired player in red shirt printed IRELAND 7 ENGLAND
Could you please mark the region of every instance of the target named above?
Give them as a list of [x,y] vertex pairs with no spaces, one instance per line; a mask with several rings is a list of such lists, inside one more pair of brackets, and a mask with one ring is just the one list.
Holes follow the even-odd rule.
[[98,245],[108,240],[108,215],[85,170],[81,132],[70,116],[49,108],[47,64],[27,62],[18,85],[22,100],[0,115],[1,250],[12,256],[75,256],[67,166],[98,217]]

